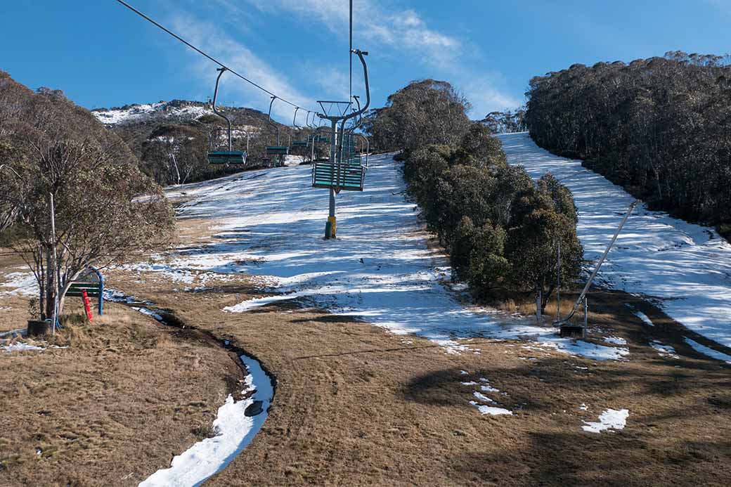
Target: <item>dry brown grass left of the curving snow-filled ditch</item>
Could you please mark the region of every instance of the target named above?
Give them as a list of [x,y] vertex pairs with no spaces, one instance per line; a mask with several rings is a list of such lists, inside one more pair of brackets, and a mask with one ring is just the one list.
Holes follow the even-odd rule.
[[0,485],[137,485],[208,434],[241,371],[199,335],[107,306],[67,349],[0,352]]

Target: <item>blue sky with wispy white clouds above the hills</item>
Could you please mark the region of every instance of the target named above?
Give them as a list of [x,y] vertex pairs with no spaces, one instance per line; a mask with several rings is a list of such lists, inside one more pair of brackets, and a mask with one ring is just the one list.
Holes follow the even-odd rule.
[[[281,97],[308,108],[348,97],[346,0],[129,2]],[[532,76],[574,63],[731,52],[731,0],[355,0],[355,10],[355,47],[371,53],[372,106],[436,78],[466,94],[473,118],[520,105]],[[0,69],[88,108],[205,101],[216,78],[211,61],[113,0],[4,1],[0,45]],[[232,77],[219,97],[268,107],[268,95]],[[292,117],[282,103],[274,112]]]

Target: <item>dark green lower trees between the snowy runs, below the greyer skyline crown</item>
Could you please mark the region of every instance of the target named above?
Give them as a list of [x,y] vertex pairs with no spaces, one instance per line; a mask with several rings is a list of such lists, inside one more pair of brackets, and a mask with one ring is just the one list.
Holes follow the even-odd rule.
[[550,173],[534,183],[523,167],[507,165],[500,140],[481,124],[458,146],[411,151],[404,178],[428,230],[450,253],[454,276],[477,297],[542,290],[545,308],[559,245],[561,282],[577,278],[583,249],[571,192]]

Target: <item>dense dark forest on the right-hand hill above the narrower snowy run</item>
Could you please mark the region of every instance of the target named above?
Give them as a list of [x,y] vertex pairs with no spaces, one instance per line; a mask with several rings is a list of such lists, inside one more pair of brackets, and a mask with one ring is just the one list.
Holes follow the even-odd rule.
[[527,95],[539,146],[731,236],[731,58],[575,64],[533,78]]

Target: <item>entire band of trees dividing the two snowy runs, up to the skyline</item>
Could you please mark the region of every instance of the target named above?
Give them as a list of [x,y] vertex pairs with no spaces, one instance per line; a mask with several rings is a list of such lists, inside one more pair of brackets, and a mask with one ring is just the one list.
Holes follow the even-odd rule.
[[468,108],[449,83],[417,81],[389,97],[370,127],[380,146],[404,149],[409,197],[450,253],[455,276],[478,298],[542,290],[545,307],[559,243],[561,282],[580,272],[571,192],[550,174],[536,184],[508,165],[500,140],[469,121]]

